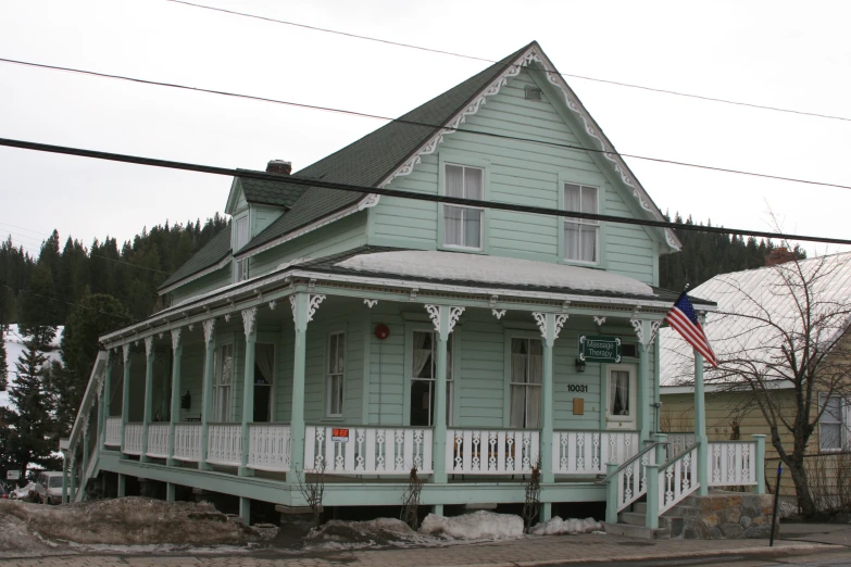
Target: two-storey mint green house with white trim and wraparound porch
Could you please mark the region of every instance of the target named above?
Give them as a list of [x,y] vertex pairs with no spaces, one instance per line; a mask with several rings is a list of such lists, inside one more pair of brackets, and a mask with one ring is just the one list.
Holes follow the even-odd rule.
[[606,501],[613,520],[647,494],[652,525],[694,490],[700,442],[653,451],[676,236],[487,207],[662,218],[554,70],[533,42],[295,175],[235,178],[230,227],[163,284],[170,306],[101,338],[62,445],[72,496],[117,474],[120,493],[137,477],[238,496],[248,520],[252,501],[304,506],[297,476],[317,470],[325,506],[398,505],[416,468],[442,512],[521,503],[539,466],[545,518]]

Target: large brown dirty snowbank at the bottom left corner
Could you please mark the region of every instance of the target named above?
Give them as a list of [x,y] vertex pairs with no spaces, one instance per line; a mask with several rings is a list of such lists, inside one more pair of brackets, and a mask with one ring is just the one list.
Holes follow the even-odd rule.
[[[230,521],[209,503],[165,502],[125,497],[47,506],[0,501],[0,518],[11,518],[46,541],[110,545],[245,544],[251,532]],[[18,545],[15,536],[0,529],[0,550]]]

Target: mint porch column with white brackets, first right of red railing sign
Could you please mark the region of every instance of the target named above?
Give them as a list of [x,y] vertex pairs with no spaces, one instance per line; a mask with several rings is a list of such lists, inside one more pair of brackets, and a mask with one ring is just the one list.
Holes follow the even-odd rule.
[[437,349],[435,349],[435,436],[431,456],[435,472],[431,479],[436,483],[447,482],[447,344],[464,307],[449,305],[425,305],[431,323],[435,325]]

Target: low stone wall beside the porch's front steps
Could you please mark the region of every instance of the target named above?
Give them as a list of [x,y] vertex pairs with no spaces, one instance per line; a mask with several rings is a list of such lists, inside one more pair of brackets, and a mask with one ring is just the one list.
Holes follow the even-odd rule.
[[[665,516],[683,518],[679,536],[687,540],[768,538],[773,506],[772,494],[710,491],[706,496],[689,496]],[[778,533],[779,521],[775,536]]]

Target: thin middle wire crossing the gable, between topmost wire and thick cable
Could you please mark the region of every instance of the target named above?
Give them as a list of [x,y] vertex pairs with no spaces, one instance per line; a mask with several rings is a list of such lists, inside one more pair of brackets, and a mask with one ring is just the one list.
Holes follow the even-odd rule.
[[[635,160],[642,160],[647,162],[653,162],[653,163],[663,163],[668,165],[678,165],[681,167],[693,167],[697,169],[705,169],[710,172],[719,172],[719,173],[728,173],[728,174],[736,174],[736,175],[746,175],[749,177],[761,177],[765,179],[775,179],[778,181],[790,181],[790,182],[797,182],[797,184],[804,184],[804,185],[814,185],[819,187],[834,187],[838,189],[851,189],[851,186],[841,185],[841,184],[831,184],[826,181],[813,181],[810,179],[801,179],[797,177],[785,177],[781,175],[772,175],[772,174],[763,174],[763,173],[756,173],[756,172],[746,172],[742,169],[731,169],[729,167],[718,167],[714,165],[702,165],[702,164],[694,164],[694,163],[688,163],[688,162],[679,162],[676,160],[665,160],[662,158],[650,158],[647,155],[638,155],[634,153],[622,153],[614,150],[605,150],[605,149],[598,149],[598,148],[586,148],[584,146],[576,146],[571,143],[562,143],[562,142],[553,142],[553,141],[547,141],[547,140],[535,140],[531,138],[522,138],[518,136],[509,136],[506,134],[496,134],[490,131],[483,131],[483,130],[474,130],[470,128],[456,128],[456,129],[449,129],[446,128],[442,124],[430,124],[425,122],[417,122],[417,121],[409,121],[403,118],[392,118],[389,116],[380,116],[377,114],[368,114],[364,112],[356,112],[356,111],[349,111],[343,109],[335,109],[331,106],[320,106],[316,104],[305,104],[301,102],[292,102],[292,101],[286,101],[286,100],[279,100],[279,99],[270,99],[266,97],[255,97],[253,94],[243,94],[238,92],[229,92],[225,90],[215,90],[215,89],[204,89],[201,87],[189,87],[186,85],[179,85],[175,83],[163,83],[158,80],[149,80],[149,79],[140,79],[135,77],[127,77],[124,75],[112,75],[109,73],[99,73],[95,71],[85,71],[85,70],[78,70],[73,67],[62,67],[58,65],[47,65],[43,63],[33,63],[28,61],[20,61],[14,59],[4,59],[0,58],[0,63],[11,63],[15,65],[24,65],[24,66],[30,66],[30,67],[37,67],[37,68],[45,68],[50,71],[61,71],[65,73],[75,73],[79,75],[88,75],[92,77],[100,77],[100,78],[111,78],[116,80],[126,80],[130,83],[137,83],[141,85],[151,85],[157,87],[168,87],[168,88],[175,88],[175,89],[182,89],[182,90],[189,90],[189,91],[196,91],[196,92],[204,92],[208,94],[218,94],[223,97],[233,97],[237,99],[245,99],[245,100],[253,100],[258,102],[268,102],[273,104],[283,104],[286,106],[293,106],[299,109],[308,109],[308,110],[315,110],[315,111],[322,111],[322,112],[331,112],[335,114],[345,114],[349,116],[359,116],[363,118],[372,118],[372,119],[379,119],[379,121],[386,121],[386,122],[397,122],[400,124],[410,124],[414,126],[425,126],[428,128],[434,128],[435,131],[443,129],[447,133],[464,133],[464,134],[473,134],[478,136],[488,136],[491,138],[499,138],[504,140],[514,140],[514,141],[523,141],[523,142],[530,142],[530,143],[538,143],[542,146],[550,146],[553,148],[564,148],[568,150],[579,150],[585,152],[593,152],[593,153],[600,153],[600,154],[606,154],[606,155],[617,155],[621,158],[633,158]],[[506,65],[508,66],[508,65]]]

